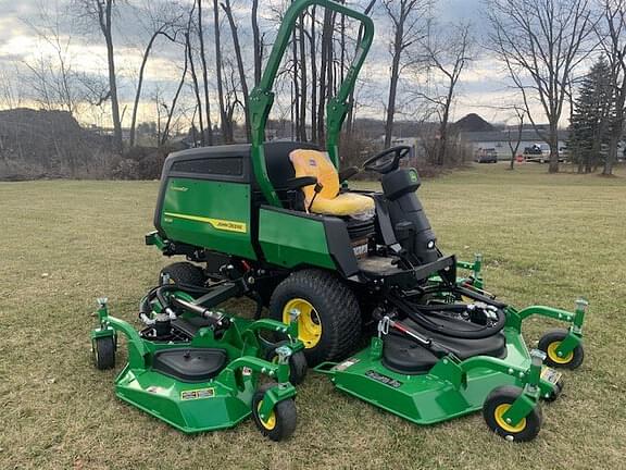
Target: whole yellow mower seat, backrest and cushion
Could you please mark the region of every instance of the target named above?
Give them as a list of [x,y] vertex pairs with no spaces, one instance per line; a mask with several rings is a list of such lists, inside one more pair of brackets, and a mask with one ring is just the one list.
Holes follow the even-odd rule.
[[313,186],[302,188],[305,207],[311,206],[311,212],[338,215],[355,217],[359,219],[370,218],[374,214],[374,199],[355,193],[342,193],[337,169],[328,158],[328,153],[317,150],[299,149],[289,154],[296,177],[313,176],[317,178],[323,188],[313,199],[315,190]]

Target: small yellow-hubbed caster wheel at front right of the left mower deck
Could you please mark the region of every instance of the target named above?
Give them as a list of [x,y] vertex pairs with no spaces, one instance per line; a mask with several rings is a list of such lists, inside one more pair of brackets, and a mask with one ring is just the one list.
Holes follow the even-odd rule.
[[293,399],[289,398],[276,404],[272,415],[266,419],[262,419],[259,416],[265,392],[274,386],[276,386],[275,382],[266,383],[254,392],[252,396],[252,417],[261,434],[278,442],[288,438],[296,431],[297,412]]

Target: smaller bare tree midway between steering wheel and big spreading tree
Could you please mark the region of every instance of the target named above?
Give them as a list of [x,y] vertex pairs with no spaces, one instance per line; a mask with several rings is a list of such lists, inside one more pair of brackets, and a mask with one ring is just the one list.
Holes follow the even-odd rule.
[[418,62],[434,71],[435,79],[442,85],[442,94],[431,97],[423,95],[435,104],[439,115],[438,146],[436,163],[443,165],[448,149],[448,124],[450,110],[455,98],[456,86],[461,74],[473,61],[474,37],[468,24],[451,25],[448,28],[438,27],[438,34],[422,40],[424,57]]

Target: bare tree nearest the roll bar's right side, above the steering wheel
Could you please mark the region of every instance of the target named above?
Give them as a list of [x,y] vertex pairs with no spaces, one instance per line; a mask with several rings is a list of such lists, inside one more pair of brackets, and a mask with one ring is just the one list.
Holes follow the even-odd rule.
[[403,69],[408,65],[408,49],[416,45],[425,35],[425,18],[429,0],[383,0],[383,8],[391,22],[392,40],[389,45],[391,54],[391,76],[389,97],[387,99],[387,121],[385,123],[385,147],[391,145],[398,83]]

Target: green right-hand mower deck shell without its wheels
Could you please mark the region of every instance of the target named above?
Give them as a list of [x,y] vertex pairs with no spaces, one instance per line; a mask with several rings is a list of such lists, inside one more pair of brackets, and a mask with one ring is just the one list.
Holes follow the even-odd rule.
[[[480,410],[499,386],[524,387],[530,354],[514,329],[505,329],[504,335],[505,360],[475,357],[455,364],[443,358],[428,373],[408,375],[381,364],[379,339],[374,338],[370,347],[343,362],[326,362],[315,371],[328,374],[337,388],[374,406],[415,424],[434,424]],[[465,368],[467,372],[462,372]],[[540,382],[541,395],[550,395],[561,374],[546,368],[542,375],[550,380]]]

